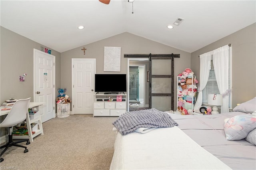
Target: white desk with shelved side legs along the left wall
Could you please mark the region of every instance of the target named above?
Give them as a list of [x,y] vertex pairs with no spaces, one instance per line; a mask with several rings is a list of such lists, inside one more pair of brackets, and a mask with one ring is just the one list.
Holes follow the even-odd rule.
[[[24,135],[24,136],[12,136],[14,139],[26,139],[29,138],[30,142],[33,142],[33,138],[35,136],[37,136],[38,134],[44,134],[43,131],[43,126],[42,126],[42,121],[41,121],[41,114],[39,111],[39,106],[40,105],[44,105],[44,102],[30,102],[29,107],[28,108],[36,108],[36,110],[38,111],[39,117],[36,119],[29,119],[29,114],[27,113],[27,117],[26,117],[26,122],[27,122],[27,127],[28,127],[28,135]],[[0,107],[1,109],[5,108],[5,107]],[[11,108],[11,107],[7,107],[7,108]],[[1,111],[0,116],[2,115],[7,115],[10,112],[10,110],[6,110],[6,111]],[[38,122],[39,125],[39,130],[36,131],[35,134],[32,134],[32,129],[30,124],[34,123],[34,122]]]

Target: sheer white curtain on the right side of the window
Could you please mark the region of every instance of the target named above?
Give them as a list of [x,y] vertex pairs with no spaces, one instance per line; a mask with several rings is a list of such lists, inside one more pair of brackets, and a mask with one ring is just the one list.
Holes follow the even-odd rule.
[[[218,49],[214,49],[212,58],[213,58],[213,67],[214,67],[214,73],[215,73],[216,81],[218,84],[218,88],[219,88],[220,94],[224,94],[229,90],[228,89],[228,62],[229,62],[228,45],[225,45]],[[223,103],[221,106],[221,113],[229,112],[229,108],[228,108],[229,96],[222,95],[222,97],[223,97],[222,99]]]

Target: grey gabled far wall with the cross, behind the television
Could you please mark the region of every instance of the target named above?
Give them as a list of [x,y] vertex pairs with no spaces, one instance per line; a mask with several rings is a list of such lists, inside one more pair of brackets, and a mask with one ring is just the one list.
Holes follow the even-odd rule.
[[[104,72],[104,46],[121,47],[121,71]],[[86,55],[81,50],[85,47]],[[72,96],[72,75],[71,59],[72,58],[96,58],[96,73],[127,73],[127,58],[124,54],[180,54],[180,58],[174,59],[174,75],[178,75],[185,68],[190,67],[190,53],[176,49],[158,42],[148,40],[130,33],[122,33],[98,42],[83,45],[61,53],[61,88],[66,88],[66,94]],[[176,79],[175,92],[176,97]],[[174,99],[176,101],[176,98]],[[176,106],[176,102],[174,103]]]

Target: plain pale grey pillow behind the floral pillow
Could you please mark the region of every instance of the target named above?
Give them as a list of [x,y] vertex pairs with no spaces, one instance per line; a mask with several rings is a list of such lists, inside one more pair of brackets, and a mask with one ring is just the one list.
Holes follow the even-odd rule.
[[244,113],[253,113],[254,111],[256,111],[256,97],[236,106],[233,109],[233,111],[244,112]]

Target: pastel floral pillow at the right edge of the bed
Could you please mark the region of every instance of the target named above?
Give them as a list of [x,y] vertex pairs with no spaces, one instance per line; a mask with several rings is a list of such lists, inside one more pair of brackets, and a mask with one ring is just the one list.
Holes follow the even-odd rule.
[[256,128],[256,114],[236,115],[225,119],[224,132],[227,140],[240,140]]

